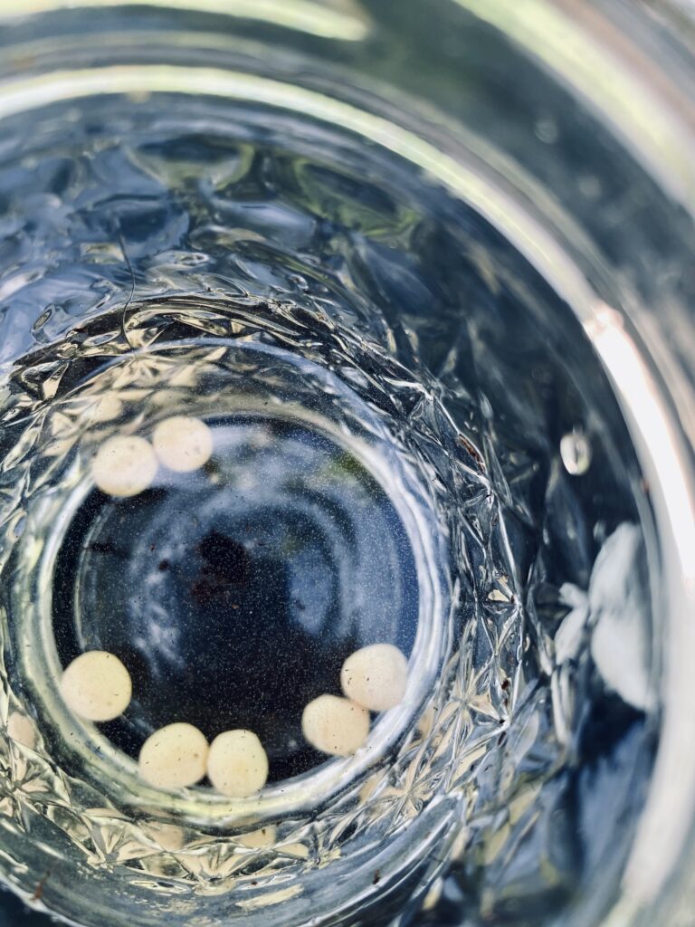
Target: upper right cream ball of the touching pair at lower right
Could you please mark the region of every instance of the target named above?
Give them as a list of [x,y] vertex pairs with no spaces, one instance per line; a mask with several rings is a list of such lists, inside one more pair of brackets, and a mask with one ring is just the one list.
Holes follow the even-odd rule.
[[347,657],[340,672],[347,698],[370,711],[386,711],[403,700],[408,660],[390,643],[373,643]]

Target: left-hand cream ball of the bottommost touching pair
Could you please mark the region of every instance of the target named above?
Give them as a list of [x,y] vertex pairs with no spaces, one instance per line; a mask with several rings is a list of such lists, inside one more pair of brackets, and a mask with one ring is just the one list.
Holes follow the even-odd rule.
[[177,722],[151,734],[140,751],[138,768],[158,789],[183,789],[205,775],[208,741],[192,724]]

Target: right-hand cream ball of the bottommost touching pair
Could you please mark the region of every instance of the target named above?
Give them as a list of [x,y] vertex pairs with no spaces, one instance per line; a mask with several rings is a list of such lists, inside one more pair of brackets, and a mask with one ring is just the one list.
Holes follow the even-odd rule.
[[251,730],[225,730],[210,744],[208,779],[230,798],[259,792],[268,779],[268,756]]

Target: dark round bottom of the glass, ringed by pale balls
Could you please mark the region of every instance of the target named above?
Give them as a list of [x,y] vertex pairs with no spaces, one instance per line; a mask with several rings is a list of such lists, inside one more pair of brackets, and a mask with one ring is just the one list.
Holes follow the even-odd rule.
[[173,721],[209,739],[248,728],[279,781],[322,762],[301,714],[339,694],[347,655],[375,641],[410,653],[416,569],[384,489],[331,439],[244,416],[210,425],[204,470],[85,500],[57,563],[57,647],[63,665],[104,649],[128,667],[133,701],[104,730],[132,756]]

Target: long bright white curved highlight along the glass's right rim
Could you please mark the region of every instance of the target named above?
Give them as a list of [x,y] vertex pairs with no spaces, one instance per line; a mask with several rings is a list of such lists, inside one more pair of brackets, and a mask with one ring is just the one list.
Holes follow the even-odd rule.
[[[695,652],[695,499],[685,464],[689,449],[683,433],[653,371],[625,330],[622,316],[598,304],[585,327],[613,379],[650,486],[651,505],[660,527],[661,588],[668,590],[659,752],[624,875],[625,892],[641,905],[662,891],[664,880],[676,866],[695,808],[690,786],[695,779],[695,752],[685,747],[695,743],[695,715],[682,708],[689,698]],[[657,854],[654,847],[659,848]]]

